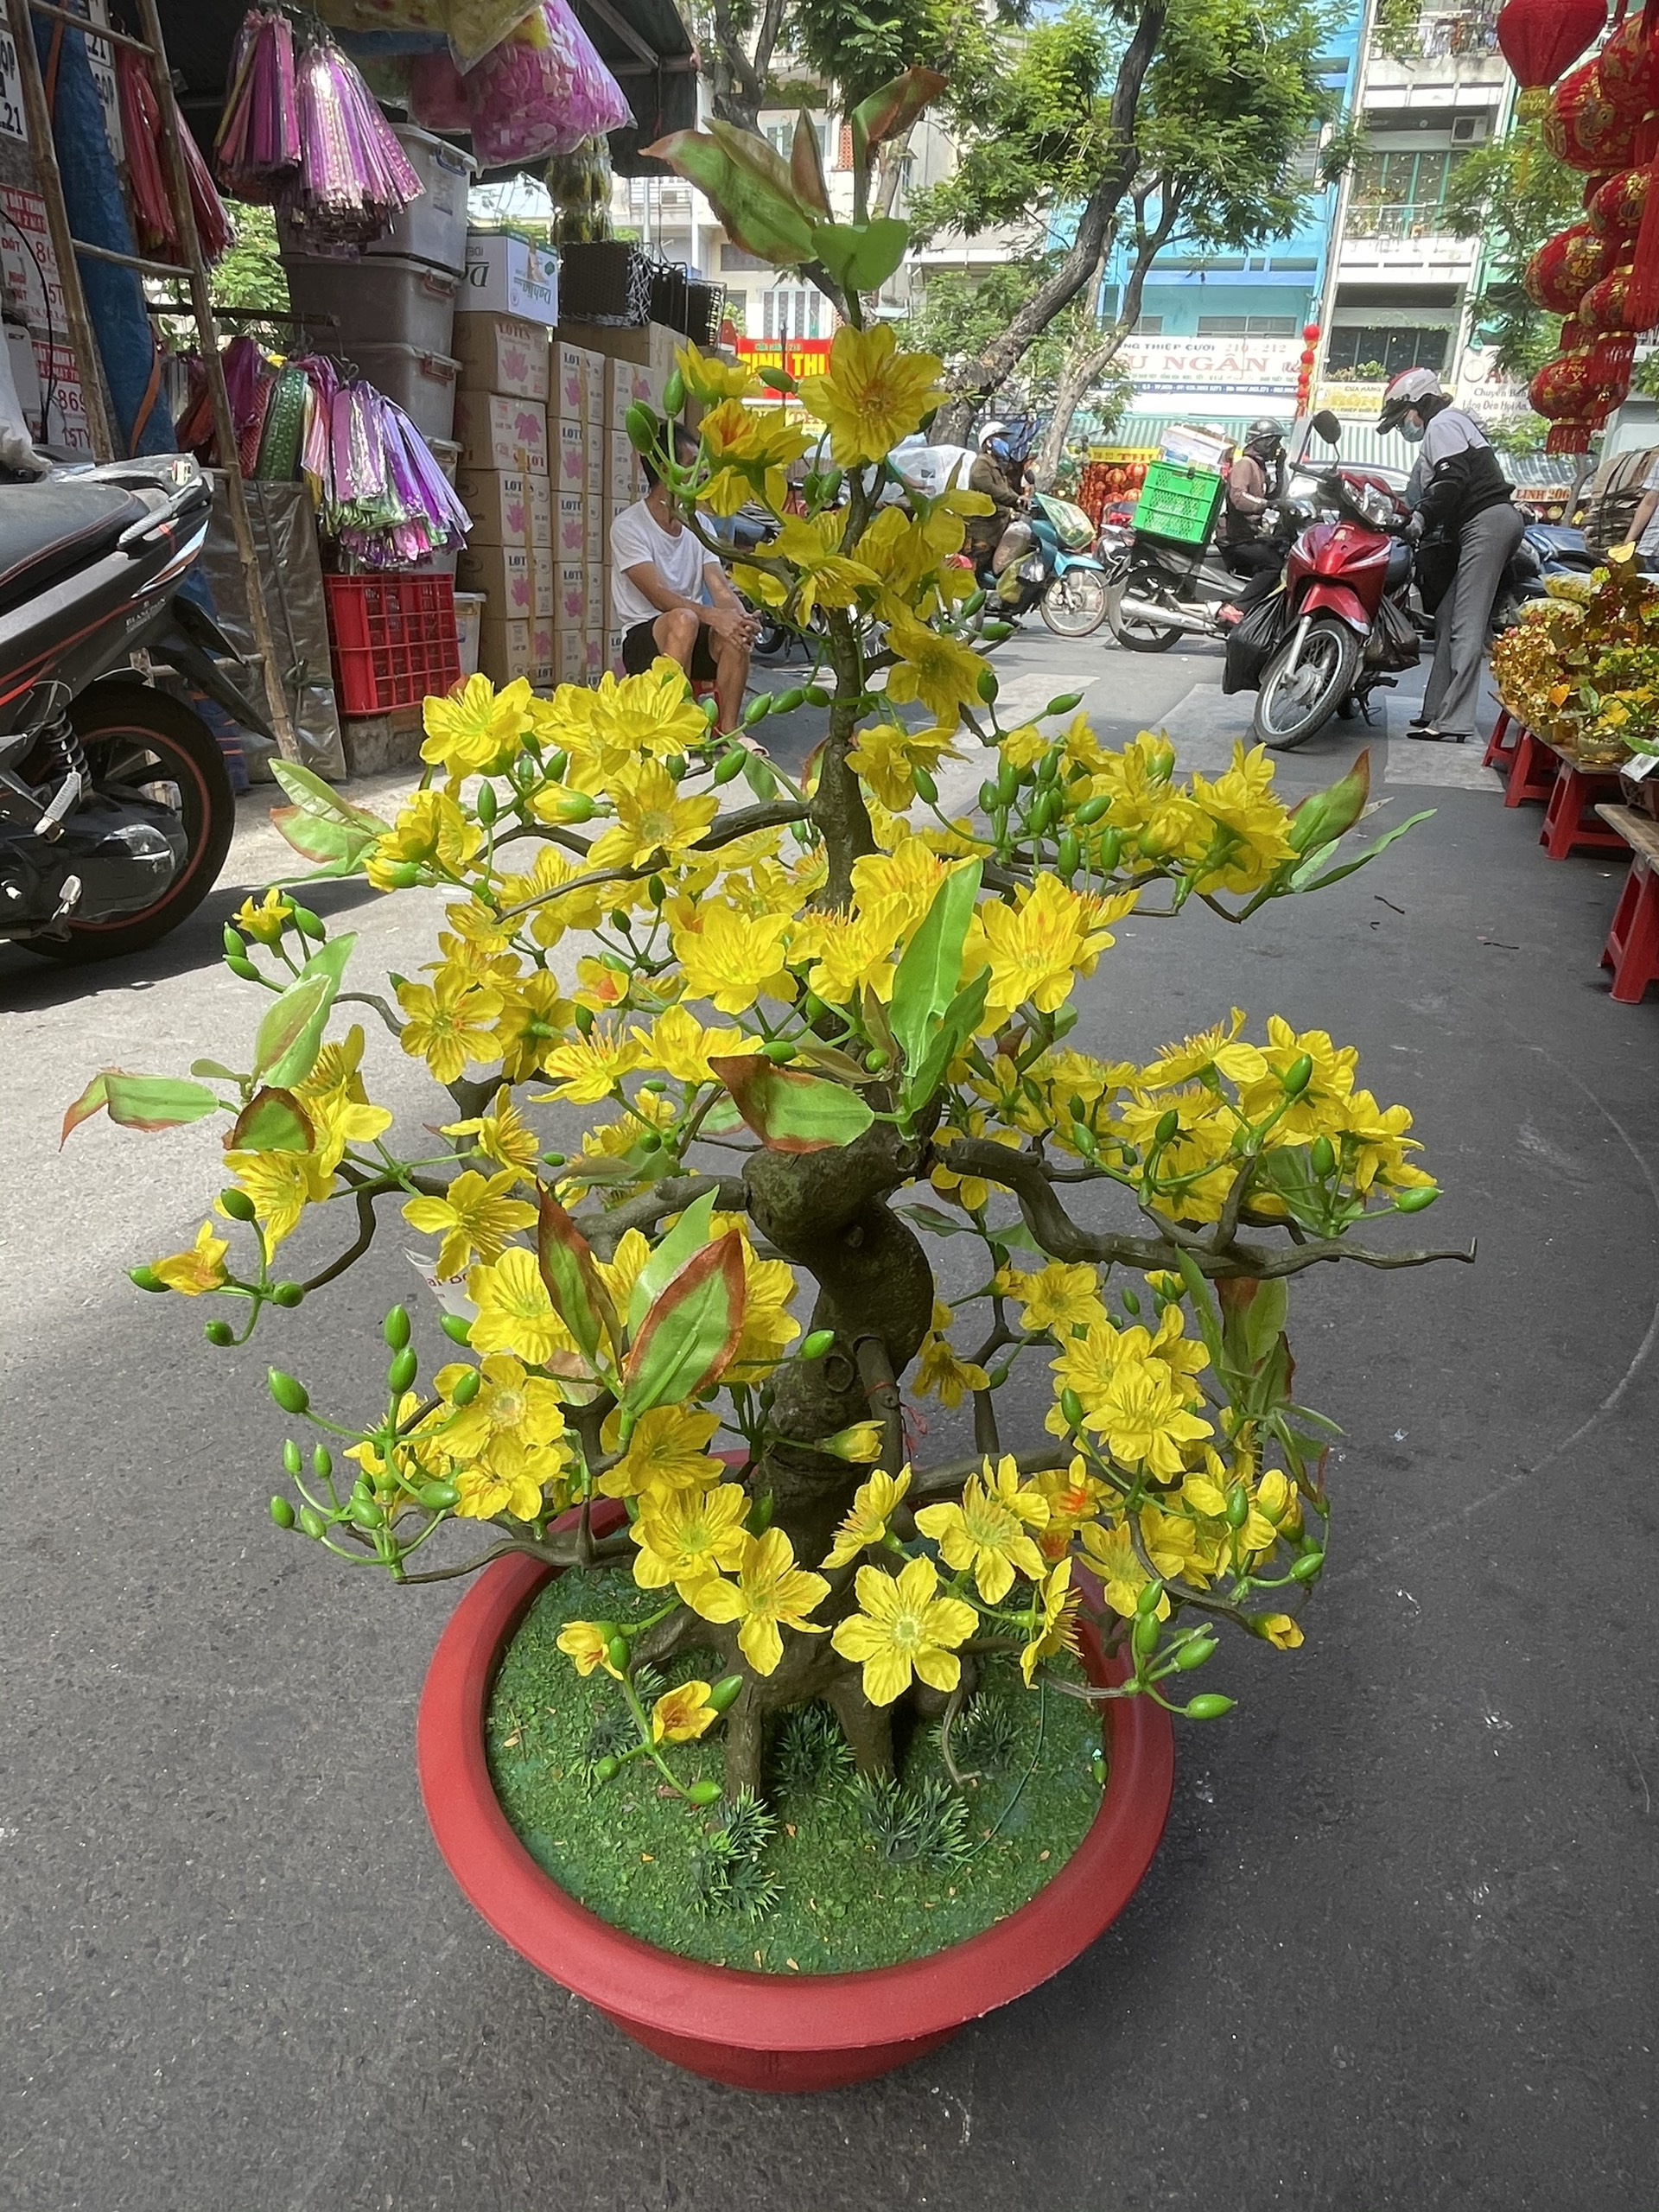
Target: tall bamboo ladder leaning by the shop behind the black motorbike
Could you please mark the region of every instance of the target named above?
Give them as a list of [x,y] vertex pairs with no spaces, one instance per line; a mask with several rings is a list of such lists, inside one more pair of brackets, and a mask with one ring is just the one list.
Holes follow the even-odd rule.
[[[254,653],[259,655],[265,679],[270,726],[276,732],[276,743],[285,759],[294,761],[299,759],[299,741],[294,737],[294,719],[288,712],[281,668],[276,666],[276,639],[265,608],[259,553],[254,549],[254,533],[248,520],[248,498],[241,489],[237,429],[230,420],[230,396],[226,392],[223,361],[219,358],[219,325],[215,323],[212,299],[208,292],[208,265],[201,259],[197,217],[190,206],[190,181],[186,177],[184,153],[179,148],[179,108],[173,97],[173,71],[168,69],[166,46],[161,40],[161,18],[155,9],[155,0],[135,0],[135,7],[144,27],[142,38],[133,38],[128,31],[117,31],[113,24],[106,27],[91,22],[86,15],[75,15],[66,7],[53,7],[53,0],[7,0],[11,42],[18,49],[22,113],[29,124],[29,153],[33,155],[40,197],[46,204],[46,232],[58,261],[58,283],[64,294],[64,323],[69,325],[69,345],[75,354],[82,400],[86,407],[86,436],[91,438],[93,460],[124,458],[115,451],[108,409],[104,407],[104,374],[100,367],[93,323],[86,314],[86,294],[82,292],[77,254],[86,254],[91,261],[115,261],[119,268],[128,268],[139,276],[166,276],[175,283],[184,281],[190,288],[190,314],[197,325],[197,345],[208,376],[215,442],[223,462],[226,507],[230,509],[230,531],[237,540],[241,582],[248,597],[248,628],[252,633]],[[86,38],[102,38],[113,46],[128,46],[133,53],[144,55],[157,111],[161,115],[161,170],[166,177],[168,201],[173,206],[173,226],[184,241],[181,263],[153,261],[144,254],[122,254],[106,246],[86,246],[82,239],[73,237],[69,228],[69,212],[64,208],[64,179],[58,168],[58,148],[51,135],[51,113],[46,108],[46,86],[40,75],[40,55],[35,51],[33,24],[29,20],[31,15],[46,15],[51,22],[66,24],[71,31],[80,31]]]

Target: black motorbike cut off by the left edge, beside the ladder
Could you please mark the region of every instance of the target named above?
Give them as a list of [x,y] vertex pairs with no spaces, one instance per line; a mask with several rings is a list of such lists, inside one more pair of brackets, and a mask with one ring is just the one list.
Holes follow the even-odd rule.
[[60,469],[0,491],[0,940],[106,960],[166,936],[230,849],[219,743],[131,666],[181,670],[270,737],[221,675],[210,615],[179,599],[212,487],[195,460]]

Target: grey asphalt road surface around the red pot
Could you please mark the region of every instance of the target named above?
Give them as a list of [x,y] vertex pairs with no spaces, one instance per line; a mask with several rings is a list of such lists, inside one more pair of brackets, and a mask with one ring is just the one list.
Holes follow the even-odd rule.
[[[1248,723],[1212,650],[1037,635],[1002,668],[1004,703],[1086,688],[1192,765]],[[1239,1712],[1179,1736],[1117,1927],[805,2101],[664,2068],[462,1902],[411,1761],[449,1597],[345,1588],[272,1531],[265,1332],[208,1354],[122,1279],[188,1241],[212,1139],[100,1121],[58,1152],[95,1066],[241,1033],[217,938],[281,865],[259,807],[148,960],[0,953],[7,2212],[1650,2212],[1659,1011],[1606,998],[1610,865],[1551,865],[1469,750],[1371,739],[1385,821],[1433,821],[1243,931],[1130,920],[1079,1040],[1144,1051],[1230,1004],[1354,1040],[1418,1115],[1436,1237],[1480,1263],[1298,1281],[1298,1385],[1347,1429],[1332,1571],[1301,1652],[1212,1668]],[[422,958],[418,900],[319,905]],[[429,1113],[407,1066],[387,1086]],[[409,1285],[396,1248],[363,1274]],[[376,1358],[341,1321],[316,1298],[281,1356],[345,1400]]]

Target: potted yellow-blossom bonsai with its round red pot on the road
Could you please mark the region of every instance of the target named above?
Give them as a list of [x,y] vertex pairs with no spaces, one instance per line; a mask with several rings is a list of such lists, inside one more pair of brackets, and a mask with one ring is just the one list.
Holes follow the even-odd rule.
[[[860,190],[929,82],[854,117]],[[1166,737],[1108,750],[1066,697],[1004,726],[1006,626],[956,560],[980,502],[880,498],[940,400],[860,312],[902,228],[830,219],[805,124],[794,164],[723,126],[664,150],[841,288],[799,385],[681,349],[695,460],[633,418],[699,531],[774,511],[737,575],[810,675],[750,721],[810,699],[818,752],[787,776],[659,661],[429,699],[392,823],[283,763],[321,876],[438,887],[431,956],[347,989],[352,938],[272,889],[226,931],[252,1040],[104,1071],[66,1133],[223,1119],[195,1243],[133,1270],[210,1301],[210,1345],[303,1347],[387,1223],[427,1241],[354,1402],[312,1400],[303,1349],[270,1369],[270,1517],[400,1584],[476,1577],[420,1765],[491,1922],[653,2048],[801,2088],[1033,1986],[1133,1891],[1168,1717],[1228,1710],[1223,1632],[1301,1644],[1325,1559],[1290,1279],[1440,1256],[1349,1241],[1436,1188],[1318,1031],[1234,1011],[1137,1064],[1077,1024],[1121,916],[1243,920],[1398,836],[1336,852],[1365,763],[1287,810],[1259,752],[1177,779]],[[369,1095],[358,1009],[447,1093],[425,1128]],[[299,1279],[307,1217],[341,1230]],[[1015,1376],[1046,1416],[1004,1433]]]

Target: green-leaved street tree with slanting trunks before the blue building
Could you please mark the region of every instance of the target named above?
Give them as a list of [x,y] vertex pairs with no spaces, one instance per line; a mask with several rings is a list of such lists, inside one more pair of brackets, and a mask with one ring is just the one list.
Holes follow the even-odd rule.
[[918,206],[918,228],[1015,226],[1060,237],[1048,272],[956,378],[947,434],[1073,301],[1091,303],[1124,252],[1117,314],[1077,349],[1040,473],[1053,473],[1071,407],[1139,316],[1155,257],[1175,243],[1239,252],[1283,237],[1321,173],[1307,159],[1334,117],[1321,58],[1340,11],[1321,0],[1068,0],[1009,46],[984,128],[953,177]]

